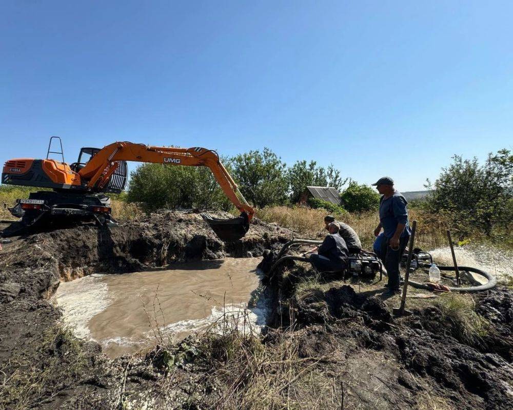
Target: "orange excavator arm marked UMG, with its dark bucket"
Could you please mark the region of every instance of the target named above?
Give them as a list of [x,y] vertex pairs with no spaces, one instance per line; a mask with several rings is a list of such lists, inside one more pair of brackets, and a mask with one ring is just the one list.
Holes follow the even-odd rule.
[[249,221],[253,218],[254,209],[244,199],[237,184],[235,184],[215,151],[201,147],[173,148],[116,142],[98,151],[78,171],[82,183],[86,183],[88,190],[101,191],[118,166],[118,161],[206,166],[210,168],[226,196],[241,212],[241,216],[230,220],[222,220],[203,214],[203,218],[223,240],[239,239],[249,229]]

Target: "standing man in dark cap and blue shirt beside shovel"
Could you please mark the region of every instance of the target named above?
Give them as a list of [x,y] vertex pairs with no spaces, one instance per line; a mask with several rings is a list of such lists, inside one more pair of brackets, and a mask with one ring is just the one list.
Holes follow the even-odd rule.
[[374,236],[380,235],[383,228],[384,238],[381,242],[380,258],[385,264],[388,274],[388,290],[383,296],[392,296],[400,292],[399,264],[406,244],[410,238],[408,224],[408,203],[401,192],[393,188],[393,180],[383,177],[375,184],[380,199],[380,224],[374,230]]

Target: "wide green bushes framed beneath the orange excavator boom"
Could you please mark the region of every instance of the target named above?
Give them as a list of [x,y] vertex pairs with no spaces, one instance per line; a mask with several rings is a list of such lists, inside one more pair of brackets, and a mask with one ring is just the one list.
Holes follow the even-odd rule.
[[143,164],[130,175],[128,202],[159,208],[220,208],[232,204],[207,167]]

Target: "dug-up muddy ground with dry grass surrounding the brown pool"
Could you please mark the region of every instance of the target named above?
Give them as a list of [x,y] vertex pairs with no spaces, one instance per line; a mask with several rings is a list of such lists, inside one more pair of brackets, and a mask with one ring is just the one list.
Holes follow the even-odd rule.
[[505,288],[476,298],[488,327],[469,341],[429,302],[394,318],[398,298],[380,299],[382,283],[323,278],[319,286],[308,266],[293,264],[267,285],[267,335],[238,345],[235,357],[233,344],[190,337],[109,360],[74,338],[49,300],[61,281],[93,272],[261,256],[293,236],[255,219],[246,237],[225,244],[198,213],[161,211],[118,227],[14,238],[0,253],[0,408],[513,408],[513,293]]

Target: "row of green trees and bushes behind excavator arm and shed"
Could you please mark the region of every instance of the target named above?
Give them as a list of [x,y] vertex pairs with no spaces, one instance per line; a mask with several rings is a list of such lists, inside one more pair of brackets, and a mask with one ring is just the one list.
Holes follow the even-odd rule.
[[[325,168],[315,161],[297,161],[287,166],[269,148],[223,158],[222,162],[246,200],[259,208],[295,204],[306,186],[333,187],[340,191],[348,180],[333,165]],[[164,207],[225,210],[232,207],[206,167],[143,164],[131,173],[126,199],[141,203],[147,211]],[[310,201],[310,206],[330,209],[321,202]],[[374,189],[351,181],[336,209],[374,209],[378,202],[379,195]]]

